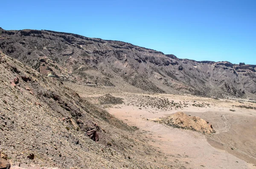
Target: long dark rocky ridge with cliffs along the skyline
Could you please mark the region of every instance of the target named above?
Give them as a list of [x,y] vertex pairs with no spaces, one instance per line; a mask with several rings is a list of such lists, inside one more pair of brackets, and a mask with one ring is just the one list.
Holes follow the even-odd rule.
[[5,54],[40,73],[99,87],[256,98],[256,65],[179,59],[120,41],[48,30],[0,29]]

